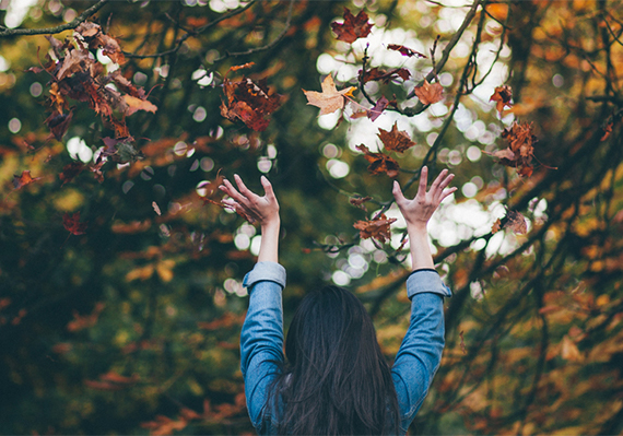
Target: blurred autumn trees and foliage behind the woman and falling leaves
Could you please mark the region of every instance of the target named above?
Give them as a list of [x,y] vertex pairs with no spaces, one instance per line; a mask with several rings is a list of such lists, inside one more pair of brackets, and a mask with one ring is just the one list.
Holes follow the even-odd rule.
[[[373,23],[352,44],[331,28],[344,8]],[[59,89],[62,56],[95,34],[74,33],[85,20],[105,44]],[[415,142],[385,151],[405,193],[424,164],[459,188],[430,223],[455,295],[409,433],[621,434],[622,20],[623,3],[590,0],[0,0],[0,433],[254,434],[238,337],[259,229],[214,203],[234,174],[278,195],[286,326],[306,292],[345,286],[391,361],[409,321],[404,223],[386,243],[353,224],[399,219],[392,178],[356,149],[383,151],[396,125]],[[409,75],[364,83],[364,63]],[[119,72],[98,83],[108,113],[81,87],[87,64]],[[303,90],[328,74],[356,90],[318,116]],[[440,102],[414,96],[424,79]],[[247,80],[281,95],[261,131],[222,115],[224,84]],[[381,96],[374,121],[351,117]],[[514,122],[534,135],[530,175],[487,154]]]

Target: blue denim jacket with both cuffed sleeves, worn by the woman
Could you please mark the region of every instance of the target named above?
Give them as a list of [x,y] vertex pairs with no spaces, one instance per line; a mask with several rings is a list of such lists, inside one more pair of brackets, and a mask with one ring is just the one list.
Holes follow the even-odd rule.
[[[260,435],[277,434],[279,416],[268,408],[268,390],[283,362],[283,308],[285,269],[275,262],[258,262],[245,276],[249,309],[240,334],[240,369],[251,423]],[[407,279],[411,319],[396,355],[391,377],[400,408],[400,434],[422,405],[444,350],[444,297],[451,296],[435,270],[419,270]]]

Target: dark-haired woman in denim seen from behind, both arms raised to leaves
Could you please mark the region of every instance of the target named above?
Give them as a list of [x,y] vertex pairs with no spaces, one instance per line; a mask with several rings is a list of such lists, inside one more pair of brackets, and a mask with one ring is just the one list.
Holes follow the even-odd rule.
[[393,197],[407,222],[413,272],[407,280],[411,320],[389,368],[374,326],[349,291],[328,286],[308,294],[292,320],[283,356],[281,292],[285,269],[278,263],[279,203],[262,176],[265,196],[236,175],[220,187],[223,202],[261,226],[258,262],[245,276],[249,309],[240,335],[242,370],[251,422],[259,434],[404,434],[420,409],[444,349],[444,297],[451,295],[434,270],[426,223],[456,188],[444,169],[426,191],[422,168],[415,198]]

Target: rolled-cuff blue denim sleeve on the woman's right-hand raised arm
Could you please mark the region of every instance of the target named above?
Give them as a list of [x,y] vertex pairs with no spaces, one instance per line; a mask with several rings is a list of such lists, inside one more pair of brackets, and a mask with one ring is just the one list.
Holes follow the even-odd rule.
[[444,297],[450,290],[434,270],[420,270],[407,280],[411,319],[396,355],[391,376],[400,406],[402,434],[420,410],[444,351]]

